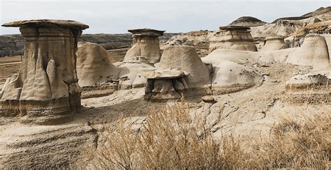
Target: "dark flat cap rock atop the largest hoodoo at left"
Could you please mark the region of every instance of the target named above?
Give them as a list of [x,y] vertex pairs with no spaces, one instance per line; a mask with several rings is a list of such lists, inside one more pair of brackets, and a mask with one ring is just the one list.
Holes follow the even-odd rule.
[[6,27],[63,27],[69,29],[88,29],[87,24],[72,20],[23,20],[17,22],[8,22],[1,26]]

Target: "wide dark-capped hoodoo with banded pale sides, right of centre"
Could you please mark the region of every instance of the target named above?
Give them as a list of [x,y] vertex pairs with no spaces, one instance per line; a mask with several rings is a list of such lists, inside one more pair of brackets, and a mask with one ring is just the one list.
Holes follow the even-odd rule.
[[221,26],[209,40],[209,53],[215,49],[236,49],[256,52],[256,45],[246,26]]

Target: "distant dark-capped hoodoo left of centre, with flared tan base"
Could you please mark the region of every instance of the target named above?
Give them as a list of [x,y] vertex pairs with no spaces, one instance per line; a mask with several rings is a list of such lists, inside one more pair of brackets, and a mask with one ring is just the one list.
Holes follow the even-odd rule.
[[139,56],[145,57],[150,63],[160,61],[159,36],[163,36],[165,31],[156,29],[129,29],[128,32],[133,33],[133,45],[126,52],[124,61],[134,60]]

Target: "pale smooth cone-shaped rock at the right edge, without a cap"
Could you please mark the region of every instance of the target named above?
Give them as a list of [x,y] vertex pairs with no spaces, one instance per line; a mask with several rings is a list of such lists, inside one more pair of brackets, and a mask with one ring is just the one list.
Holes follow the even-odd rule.
[[308,34],[304,37],[302,46],[288,56],[286,63],[309,65],[313,66],[314,70],[330,68],[330,56],[325,38],[316,33]]

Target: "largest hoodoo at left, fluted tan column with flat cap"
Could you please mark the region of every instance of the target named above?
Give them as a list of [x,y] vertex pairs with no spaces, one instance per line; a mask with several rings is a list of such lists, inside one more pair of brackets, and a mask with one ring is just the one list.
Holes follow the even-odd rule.
[[89,26],[70,20],[24,20],[2,26],[20,27],[26,43],[20,71],[0,95],[0,116],[20,114],[22,123],[41,125],[71,120],[80,107],[77,38]]

